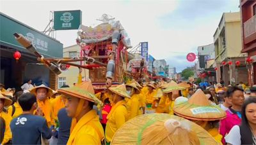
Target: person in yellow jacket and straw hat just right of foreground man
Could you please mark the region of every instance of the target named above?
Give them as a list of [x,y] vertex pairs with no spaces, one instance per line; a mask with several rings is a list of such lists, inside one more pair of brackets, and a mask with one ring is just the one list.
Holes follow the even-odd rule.
[[131,98],[127,93],[124,84],[116,87],[109,87],[109,90],[113,92],[113,102],[115,105],[107,116],[108,122],[106,124],[105,132],[107,144],[111,142],[116,130],[127,121],[127,107],[124,98]]

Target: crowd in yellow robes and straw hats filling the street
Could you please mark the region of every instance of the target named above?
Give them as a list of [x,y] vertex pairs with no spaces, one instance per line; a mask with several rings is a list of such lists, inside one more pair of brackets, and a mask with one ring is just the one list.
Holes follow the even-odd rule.
[[1,144],[256,144],[256,87],[243,83],[31,83],[0,84]]

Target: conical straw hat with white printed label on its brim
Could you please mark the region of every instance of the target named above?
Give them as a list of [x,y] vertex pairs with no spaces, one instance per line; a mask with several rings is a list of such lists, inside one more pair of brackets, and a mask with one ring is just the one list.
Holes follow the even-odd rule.
[[197,90],[188,101],[174,104],[173,111],[189,120],[214,121],[226,117],[225,111],[211,104],[202,90]]

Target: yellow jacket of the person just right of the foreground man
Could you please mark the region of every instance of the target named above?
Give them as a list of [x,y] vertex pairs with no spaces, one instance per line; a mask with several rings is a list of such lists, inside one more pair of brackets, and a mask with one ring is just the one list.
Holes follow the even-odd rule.
[[108,122],[105,132],[107,142],[111,142],[116,130],[118,130],[118,128],[120,128],[125,121],[127,121],[127,109],[125,106],[125,100],[121,100],[112,107],[110,113],[108,114]]

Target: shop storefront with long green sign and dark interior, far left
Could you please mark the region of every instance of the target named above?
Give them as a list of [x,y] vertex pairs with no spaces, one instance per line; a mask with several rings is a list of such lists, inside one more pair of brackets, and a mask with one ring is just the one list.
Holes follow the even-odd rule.
[[[63,44],[3,13],[0,13],[0,31],[0,81],[5,88],[15,87],[19,90],[28,79],[32,79],[33,84],[36,85],[44,83],[51,88],[56,88],[58,76],[44,65],[37,64],[35,55],[20,46],[13,34],[17,32],[25,36],[45,58],[62,57]],[[19,60],[13,58],[16,51],[21,54]]]

